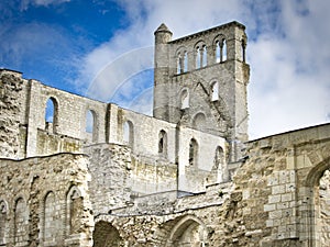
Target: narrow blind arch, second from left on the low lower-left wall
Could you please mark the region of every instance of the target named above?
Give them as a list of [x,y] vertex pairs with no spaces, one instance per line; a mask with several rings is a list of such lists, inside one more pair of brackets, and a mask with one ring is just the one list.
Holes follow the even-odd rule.
[[29,242],[29,211],[25,201],[20,198],[14,207],[14,245],[28,246]]

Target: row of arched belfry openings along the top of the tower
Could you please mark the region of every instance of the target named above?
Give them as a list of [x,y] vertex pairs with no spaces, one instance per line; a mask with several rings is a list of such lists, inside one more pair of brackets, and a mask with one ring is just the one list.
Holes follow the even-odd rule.
[[[241,58],[245,63],[245,48],[246,38],[241,40]],[[208,61],[208,57],[211,59]],[[223,35],[219,35],[215,38],[212,45],[208,46],[206,42],[199,41],[194,46],[194,52],[188,52],[187,48],[180,47],[176,52],[176,72],[183,74],[188,70],[200,69],[206,67],[208,64],[219,64],[228,59],[228,46],[227,38]],[[194,63],[191,63],[194,61]],[[189,65],[194,66],[189,68]]]

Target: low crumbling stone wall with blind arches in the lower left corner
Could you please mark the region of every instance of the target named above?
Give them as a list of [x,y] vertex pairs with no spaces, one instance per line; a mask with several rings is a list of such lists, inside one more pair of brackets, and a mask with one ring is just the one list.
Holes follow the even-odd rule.
[[0,160],[6,246],[91,246],[94,221],[84,155]]

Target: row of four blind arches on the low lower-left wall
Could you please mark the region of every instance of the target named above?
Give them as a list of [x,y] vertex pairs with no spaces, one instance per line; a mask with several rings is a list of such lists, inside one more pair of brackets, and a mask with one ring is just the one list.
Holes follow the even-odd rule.
[[[80,227],[80,209],[82,205],[81,193],[77,187],[72,187],[66,197],[65,218],[58,207],[61,201],[53,191],[48,191],[40,204],[40,239],[43,243],[55,244],[63,239],[63,235],[76,234]],[[15,200],[12,211],[8,203],[0,199],[0,245],[7,244],[8,229],[13,229],[13,244],[25,246],[30,234],[30,214],[28,202],[23,197]],[[9,215],[13,214],[13,222]],[[10,225],[11,224],[11,225]],[[13,226],[13,227],[12,227]],[[64,227],[65,226],[65,227]],[[63,229],[65,228],[65,232]]]

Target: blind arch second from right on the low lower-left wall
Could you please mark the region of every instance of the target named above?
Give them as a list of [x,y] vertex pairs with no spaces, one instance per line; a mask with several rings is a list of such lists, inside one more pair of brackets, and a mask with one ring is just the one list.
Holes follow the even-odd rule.
[[44,242],[54,243],[59,235],[58,218],[59,214],[56,210],[56,200],[53,192],[48,192],[44,200],[44,225],[43,225],[43,239]]

